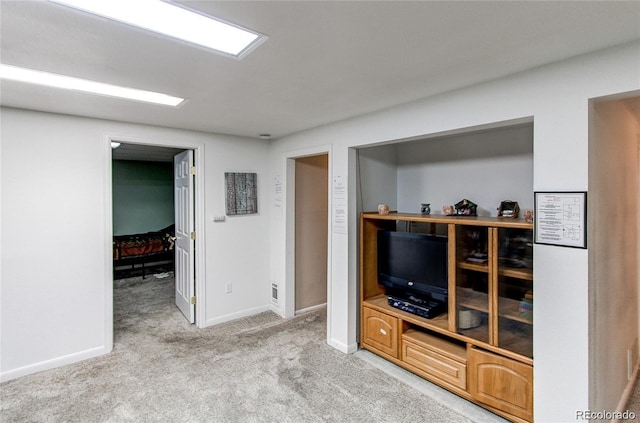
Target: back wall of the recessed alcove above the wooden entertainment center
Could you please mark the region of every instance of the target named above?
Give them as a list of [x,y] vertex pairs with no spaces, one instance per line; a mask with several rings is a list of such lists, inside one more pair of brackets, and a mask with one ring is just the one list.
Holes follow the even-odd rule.
[[398,210],[432,214],[467,198],[479,216],[503,200],[533,209],[533,126],[516,126],[398,144]]

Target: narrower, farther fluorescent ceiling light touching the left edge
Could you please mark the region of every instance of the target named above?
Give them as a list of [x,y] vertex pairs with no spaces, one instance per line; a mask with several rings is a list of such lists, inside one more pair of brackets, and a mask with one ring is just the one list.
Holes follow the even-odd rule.
[[0,79],[46,85],[49,87],[63,88],[67,90],[83,91],[91,94],[101,94],[111,97],[125,98],[127,100],[138,100],[147,103],[162,104],[165,106],[177,106],[184,101],[183,98],[173,97],[153,91],[120,87],[117,85],[104,84],[102,82],[89,81],[86,79],[73,78],[71,76],[40,72],[3,64],[0,64]]

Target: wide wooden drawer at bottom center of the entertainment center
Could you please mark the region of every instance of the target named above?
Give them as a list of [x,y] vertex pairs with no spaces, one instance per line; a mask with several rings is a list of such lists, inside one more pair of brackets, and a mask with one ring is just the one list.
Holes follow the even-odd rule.
[[402,338],[402,361],[423,371],[435,381],[445,382],[460,389],[467,388],[467,366],[464,362],[453,360],[435,349]]

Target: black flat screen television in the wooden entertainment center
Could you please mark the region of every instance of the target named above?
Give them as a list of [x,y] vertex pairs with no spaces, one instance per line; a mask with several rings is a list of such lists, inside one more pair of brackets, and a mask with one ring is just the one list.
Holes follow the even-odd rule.
[[378,283],[388,293],[447,302],[447,238],[413,232],[378,231]]

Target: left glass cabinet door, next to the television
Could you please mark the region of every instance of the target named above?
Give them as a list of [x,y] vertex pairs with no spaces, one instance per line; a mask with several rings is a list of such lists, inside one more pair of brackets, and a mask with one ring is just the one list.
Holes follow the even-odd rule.
[[489,228],[456,226],[456,331],[490,342]]

